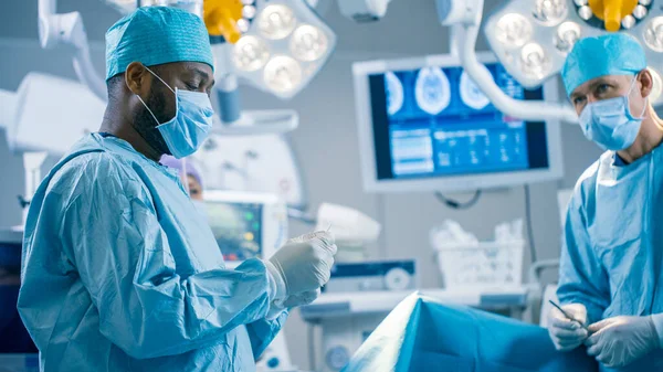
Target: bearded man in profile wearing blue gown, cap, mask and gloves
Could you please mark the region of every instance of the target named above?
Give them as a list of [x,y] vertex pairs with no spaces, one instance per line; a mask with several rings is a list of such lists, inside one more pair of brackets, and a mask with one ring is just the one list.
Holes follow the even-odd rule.
[[162,155],[183,158],[212,123],[201,19],[140,8],[106,34],[99,132],[49,173],[23,241],[18,309],[42,372],[251,372],[287,310],[330,275],[334,237],[290,241],[236,269]]

